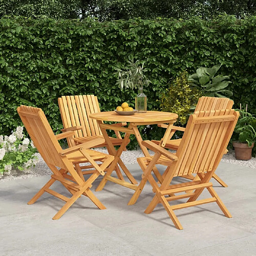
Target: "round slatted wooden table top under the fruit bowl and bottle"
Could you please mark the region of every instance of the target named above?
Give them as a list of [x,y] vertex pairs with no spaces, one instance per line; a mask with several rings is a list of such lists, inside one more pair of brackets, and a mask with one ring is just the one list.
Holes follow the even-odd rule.
[[135,113],[131,116],[118,115],[115,111],[98,112],[90,115],[90,118],[101,121],[113,122],[168,122],[178,118],[177,114],[162,111],[147,111],[146,113]]

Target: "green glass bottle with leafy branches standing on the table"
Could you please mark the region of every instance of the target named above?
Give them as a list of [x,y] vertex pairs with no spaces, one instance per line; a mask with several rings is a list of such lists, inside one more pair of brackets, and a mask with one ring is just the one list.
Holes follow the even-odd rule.
[[143,66],[139,65],[139,60],[128,61],[129,67],[125,70],[117,69],[118,79],[116,84],[123,90],[123,88],[137,89],[139,88],[139,93],[135,97],[135,109],[138,113],[146,112],[146,95],[143,93],[143,86],[150,83],[150,80],[144,75]]

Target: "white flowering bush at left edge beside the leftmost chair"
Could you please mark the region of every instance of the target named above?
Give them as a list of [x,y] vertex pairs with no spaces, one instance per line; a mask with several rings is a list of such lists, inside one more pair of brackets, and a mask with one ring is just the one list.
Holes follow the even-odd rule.
[[36,148],[23,129],[17,126],[10,136],[0,135],[0,176],[10,174],[11,170],[28,172],[37,162]]

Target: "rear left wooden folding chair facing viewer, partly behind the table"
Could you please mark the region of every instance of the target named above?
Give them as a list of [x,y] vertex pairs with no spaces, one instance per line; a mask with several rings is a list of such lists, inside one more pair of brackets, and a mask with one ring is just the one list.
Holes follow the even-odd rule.
[[[64,129],[61,131],[74,131],[74,141],[76,144],[85,143],[99,138],[104,138],[96,120],[90,118],[90,114],[100,112],[98,98],[94,95],[61,96],[58,98],[60,115]],[[125,126],[126,122],[111,124],[112,126]],[[114,146],[120,146],[123,139],[118,131],[115,131],[116,138],[110,137]],[[127,141],[127,144],[130,140]],[[71,146],[70,139],[68,144]],[[106,147],[111,154],[108,143],[103,140],[99,144],[94,143],[94,147]],[[124,149],[126,150],[126,148]],[[83,167],[86,168],[86,167]],[[117,165],[115,167],[117,176],[124,180]],[[89,172],[90,173],[90,172]],[[86,172],[84,172],[86,174]]]

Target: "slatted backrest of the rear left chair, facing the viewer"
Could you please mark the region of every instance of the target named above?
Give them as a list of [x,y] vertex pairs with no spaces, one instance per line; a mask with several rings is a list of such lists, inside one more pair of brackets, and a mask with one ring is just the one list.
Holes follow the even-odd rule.
[[82,126],[81,130],[75,131],[76,138],[102,135],[97,121],[89,117],[90,114],[100,112],[96,96],[61,96],[58,104],[64,128]]

